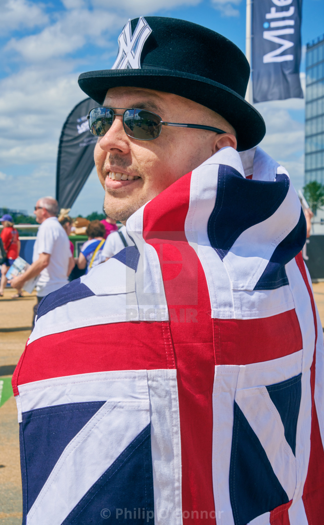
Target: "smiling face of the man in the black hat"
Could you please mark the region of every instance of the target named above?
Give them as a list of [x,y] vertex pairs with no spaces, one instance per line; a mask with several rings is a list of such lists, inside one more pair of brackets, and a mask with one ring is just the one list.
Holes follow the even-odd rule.
[[[207,124],[224,129],[215,125],[212,111],[171,93],[143,88],[113,88],[107,92],[103,105],[147,109],[157,113],[163,121]],[[122,114],[123,111],[115,110],[115,113]],[[225,126],[226,121],[222,124]],[[220,138],[222,144],[217,146]],[[132,139],[124,131],[122,117],[116,117],[110,130],[98,139],[94,150],[96,170],[105,189],[106,215],[125,222],[143,204],[225,145],[236,147],[234,135],[174,127],[163,127],[154,140]],[[116,181],[109,177],[111,172],[135,178]]]

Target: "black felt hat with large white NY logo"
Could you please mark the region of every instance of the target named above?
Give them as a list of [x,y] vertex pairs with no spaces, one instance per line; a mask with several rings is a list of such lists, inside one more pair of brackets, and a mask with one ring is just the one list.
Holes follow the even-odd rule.
[[[108,89],[134,86],[175,93],[219,113],[237,133],[237,150],[265,135],[260,113],[244,100],[250,76],[242,51],[206,27],[160,16],[129,20],[112,69],[89,71],[80,88],[99,104]],[[201,124],[202,122],[195,122]]]

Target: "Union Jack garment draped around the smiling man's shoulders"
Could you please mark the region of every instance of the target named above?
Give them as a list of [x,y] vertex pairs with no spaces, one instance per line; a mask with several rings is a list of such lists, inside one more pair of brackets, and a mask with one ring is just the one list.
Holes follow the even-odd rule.
[[282,166],[242,160],[181,177],[40,303],[13,375],[28,525],[322,523],[305,217]]

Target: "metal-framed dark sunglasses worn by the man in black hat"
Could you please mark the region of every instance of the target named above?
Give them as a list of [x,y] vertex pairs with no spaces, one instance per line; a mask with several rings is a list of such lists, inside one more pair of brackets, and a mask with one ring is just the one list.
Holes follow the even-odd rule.
[[[114,109],[124,109],[124,113],[115,113]],[[93,108],[88,115],[89,128],[95,137],[103,137],[112,127],[114,117],[123,116],[123,125],[126,135],[137,140],[157,139],[162,126],[177,126],[180,128],[196,128],[199,130],[226,133],[226,131],[201,124],[180,124],[178,122],[163,122],[161,117],[146,109],[127,108]]]

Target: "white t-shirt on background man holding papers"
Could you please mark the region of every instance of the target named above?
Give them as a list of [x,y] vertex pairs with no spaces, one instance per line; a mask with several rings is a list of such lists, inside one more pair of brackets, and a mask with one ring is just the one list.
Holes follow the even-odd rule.
[[40,272],[36,285],[38,297],[58,290],[68,281],[69,258],[71,257],[69,237],[57,217],[49,217],[38,228],[33,251],[33,262],[39,254],[50,254],[49,265]]

